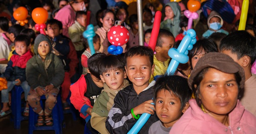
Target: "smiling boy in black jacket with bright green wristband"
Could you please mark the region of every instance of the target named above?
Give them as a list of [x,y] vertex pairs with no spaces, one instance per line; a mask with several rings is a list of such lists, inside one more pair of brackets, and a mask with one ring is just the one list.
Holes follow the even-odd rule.
[[154,114],[154,105],[150,104],[153,103],[155,83],[149,83],[154,72],[153,55],[152,49],[145,46],[135,46],[125,54],[125,70],[132,85],[116,94],[106,120],[106,128],[111,134],[127,133],[143,113],[152,115],[139,134],[147,133],[150,125],[158,120]]

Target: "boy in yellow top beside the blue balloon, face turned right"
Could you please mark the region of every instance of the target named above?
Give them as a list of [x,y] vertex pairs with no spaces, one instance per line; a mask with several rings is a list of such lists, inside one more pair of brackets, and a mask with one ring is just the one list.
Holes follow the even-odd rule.
[[154,74],[151,76],[151,80],[157,79],[160,75],[165,74],[168,63],[170,60],[170,57],[168,55],[168,51],[170,48],[173,47],[175,43],[175,38],[173,34],[166,30],[166,29],[160,29],[159,34],[157,37],[157,44],[156,44],[156,54],[154,54]]

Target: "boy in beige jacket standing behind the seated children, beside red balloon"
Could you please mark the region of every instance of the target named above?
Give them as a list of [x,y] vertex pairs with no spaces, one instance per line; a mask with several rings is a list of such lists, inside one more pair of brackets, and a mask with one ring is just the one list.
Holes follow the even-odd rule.
[[83,44],[83,32],[86,30],[86,20],[87,14],[85,11],[76,12],[76,21],[72,26],[68,28],[68,34],[72,43],[74,44],[77,52],[77,56],[81,57],[81,54],[84,52]]

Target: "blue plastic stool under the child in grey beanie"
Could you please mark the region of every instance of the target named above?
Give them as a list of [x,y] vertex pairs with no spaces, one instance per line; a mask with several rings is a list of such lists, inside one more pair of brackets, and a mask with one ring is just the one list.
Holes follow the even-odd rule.
[[[41,96],[41,105],[42,100],[45,100],[45,96]],[[60,100],[60,101],[59,101]],[[33,134],[33,131],[37,130],[54,130],[55,134],[62,134],[62,127],[64,124],[64,115],[62,111],[62,103],[61,103],[61,97],[58,94],[57,96],[57,104],[52,109],[52,119],[53,119],[53,125],[52,126],[35,126],[38,120],[38,114],[36,114],[32,107],[29,106],[29,134]]]

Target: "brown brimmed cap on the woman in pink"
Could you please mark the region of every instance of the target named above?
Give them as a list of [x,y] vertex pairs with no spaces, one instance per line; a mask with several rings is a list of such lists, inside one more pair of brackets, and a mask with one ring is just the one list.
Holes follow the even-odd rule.
[[244,69],[236,63],[230,56],[218,52],[210,52],[204,55],[201,59],[198,60],[195,68],[192,70],[189,77],[188,83],[189,88],[192,89],[192,83],[195,77],[207,67],[215,68],[219,71],[228,74],[234,74],[236,72],[241,76],[240,88],[244,88],[245,76]]

